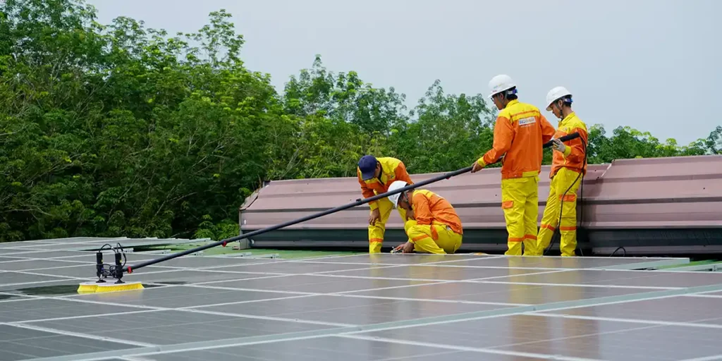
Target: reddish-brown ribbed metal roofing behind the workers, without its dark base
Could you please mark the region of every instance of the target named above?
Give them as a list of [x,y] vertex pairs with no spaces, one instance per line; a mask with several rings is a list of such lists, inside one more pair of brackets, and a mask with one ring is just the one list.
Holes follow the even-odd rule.
[[[440,173],[415,174],[422,181]],[[539,182],[539,219],[549,195],[549,166]],[[500,169],[464,174],[423,188],[445,197],[464,228],[505,226],[500,208]],[[722,226],[722,156],[617,160],[589,165],[582,187],[583,226],[720,227]],[[357,178],[271,181],[240,209],[242,230],[257,230],[361,197]],[[288,227],[289,229],[365,229],[368,206],[358,206]],[[390,217],[387,229],[401,229]]]

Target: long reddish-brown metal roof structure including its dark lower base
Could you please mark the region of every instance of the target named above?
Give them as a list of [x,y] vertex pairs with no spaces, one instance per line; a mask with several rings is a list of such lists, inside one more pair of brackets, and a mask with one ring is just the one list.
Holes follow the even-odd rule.
[[[422,181],[435,175],[438,173],[412,175],[412,179]],[[539,178],[541,220],[549,194],[549,167],[543,167]],[[444,196],[456,208],[465,230],[463,248],[500,251],[506,247],[500,181],[499,169],[490,168],[423,188]],[[590,165],[582,190],[578,219],[588,245],[596,250],[593,252],[611,253],[619,245],[632,253],[635,248],[656,253],[722,249],[721,155]],[[274,181],[241,207],[241,229],[271,227],[360,197],[357,178]],[[367,205],[357,206],[287,227],[289,232],[261,235],[256,241],[265,245],[357,244],[365,240],[368,215]],[[395,210],[387,229],[402,229]],[[402,233],[389,235],[402,241]]]

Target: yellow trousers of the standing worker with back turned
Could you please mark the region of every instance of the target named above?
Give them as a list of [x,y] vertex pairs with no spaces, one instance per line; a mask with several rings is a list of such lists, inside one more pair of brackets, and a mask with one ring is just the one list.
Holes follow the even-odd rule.
[[501,181],[501,207],[506,219],[508,256],[536,256],[536,218],[539,217],[539,176]]

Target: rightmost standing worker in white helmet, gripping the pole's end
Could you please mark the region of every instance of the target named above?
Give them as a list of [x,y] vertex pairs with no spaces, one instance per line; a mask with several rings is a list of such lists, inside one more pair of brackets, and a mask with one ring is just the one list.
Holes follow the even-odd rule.
[[[575,256],[577,248],[577,189],[586,174],[586,124],[572,110],[572,94],[565,87],[554,87],[547,94],[547,111],[560,119],[554,134],[554,158],[549,178],[547,206],[541,217],[536,251],[541,254],[549,246],[554,230],[559,225],[562,256]],[[579,133],[579,138],[562,143],[559,138]],[[561,223],[561,224],[560,224]]]

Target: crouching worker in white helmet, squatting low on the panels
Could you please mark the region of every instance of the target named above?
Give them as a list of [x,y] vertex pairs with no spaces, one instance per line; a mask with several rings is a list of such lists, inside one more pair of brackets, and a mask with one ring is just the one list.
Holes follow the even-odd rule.
[[[406,182],[395,181],[388,191],[405,186]],[[404,253],[455,253],[461,247],[461,219],[443,197],[425,189],[412,189],[392,194],[388,199],[406,212],[404,230],[409,241],[400,246]]]

